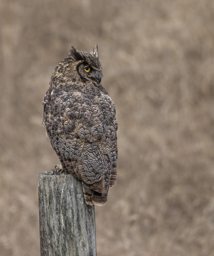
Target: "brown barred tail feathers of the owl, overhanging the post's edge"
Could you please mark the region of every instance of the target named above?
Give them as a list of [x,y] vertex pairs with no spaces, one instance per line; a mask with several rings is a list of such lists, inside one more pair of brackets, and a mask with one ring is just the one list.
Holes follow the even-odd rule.
[[[99,183],[99,182],[96,182],[96,183]],[[83,194],[85,197],[86,204],[89,204],[89,205],[96,204],[100,206],[106,204],[107,196],[108,196],[108,186],[105,186],[105,188],[102,189],[101,192],[104,192],[104,193],[99,193],[96,191],[99,188],[97,188],[95,183],[88,185],[82,181],[82,188],[83,188]]]

